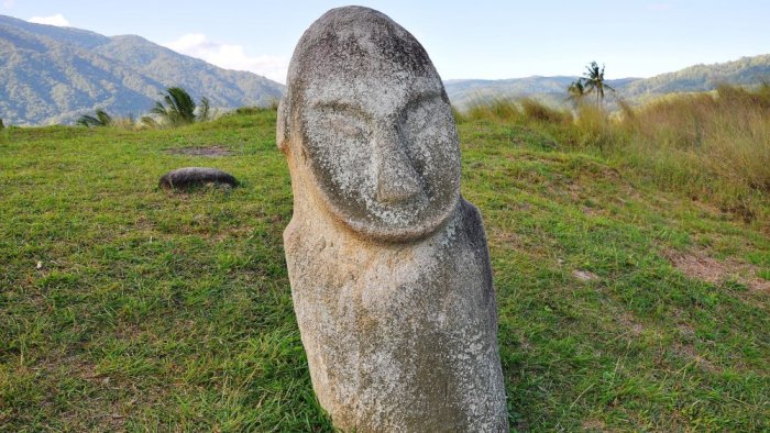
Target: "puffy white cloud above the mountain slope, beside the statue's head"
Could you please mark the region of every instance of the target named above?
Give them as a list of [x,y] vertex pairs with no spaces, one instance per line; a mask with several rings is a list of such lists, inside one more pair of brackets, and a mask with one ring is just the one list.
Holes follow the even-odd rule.
[[286,80],[289,60],[285,56],[250,57],[242,45],[212,42],[202,33],[186,34],[164,45],[226,69],[248,70],[279,82]]

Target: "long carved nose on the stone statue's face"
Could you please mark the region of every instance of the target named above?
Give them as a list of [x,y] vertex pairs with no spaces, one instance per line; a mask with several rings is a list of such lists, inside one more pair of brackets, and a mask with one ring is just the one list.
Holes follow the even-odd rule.
[[396,131],[380,137],[375,146],[380,153],[377,170],[377,201],[399,203],[422,191],[420,177],[407,156]]

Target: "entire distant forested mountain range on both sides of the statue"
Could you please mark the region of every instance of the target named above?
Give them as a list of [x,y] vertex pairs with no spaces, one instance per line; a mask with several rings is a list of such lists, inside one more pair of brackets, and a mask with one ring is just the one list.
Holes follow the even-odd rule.
[[[566,87],[578,78],[448,80],[446,88],[461,109],[479,100],[521,97],[564,106]],[[770,81],[770,55],[608,84],[618,97],[638,103],[672,92],[713,90],[719,82],[762,81]],[[222,69],[141,36],[109,37],[0,15],[0,119],[6,124],[72,123],[97,108],[112,115],[139,116],[169,86],[187,89],[196,100],[207,97],[212,107],[224,109],[265,106],[284,91],[283,85],[265,77]]]

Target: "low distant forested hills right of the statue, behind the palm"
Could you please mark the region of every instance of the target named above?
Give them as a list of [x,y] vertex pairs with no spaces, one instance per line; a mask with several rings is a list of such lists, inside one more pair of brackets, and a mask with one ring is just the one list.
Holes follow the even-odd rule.
[[[612,70],[612,65],[607,65]],[[578,79],[566,77],[527,77],[504,80],[448,80],[447,93],[452,103],[468,108],[477,100],[491,98],[535,97],[551,106],[564,106],[566,87]],[[744,57],[735,62],[696,65],[651,78],[607,80],[617,96],[632,103],[668,93],[714,90],[721,82],[743,86],[770,81],[770,55]]]

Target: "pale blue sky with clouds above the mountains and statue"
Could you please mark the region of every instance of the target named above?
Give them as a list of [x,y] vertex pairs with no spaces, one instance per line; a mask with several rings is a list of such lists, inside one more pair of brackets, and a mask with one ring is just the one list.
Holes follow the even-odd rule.
[[[316,0],[0,0],[0,14],[136,34],[229,69],[285,82],[302,32],[329,9]],[[358,1],[425,46],[443,79],[581,75],[651,77],[695,64],[770,54],[770,1]]]

